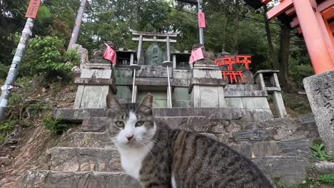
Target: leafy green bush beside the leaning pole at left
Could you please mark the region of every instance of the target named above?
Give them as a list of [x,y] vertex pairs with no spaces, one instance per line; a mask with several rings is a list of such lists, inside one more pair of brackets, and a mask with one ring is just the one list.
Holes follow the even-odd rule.
[[56,36],[36,36],[29,41],[20,73],[24,76],[45,73],[49,81],[57,76],[69,79],[71,68],[78,64],[79,55],[74,50],[66,51],[64,41]]

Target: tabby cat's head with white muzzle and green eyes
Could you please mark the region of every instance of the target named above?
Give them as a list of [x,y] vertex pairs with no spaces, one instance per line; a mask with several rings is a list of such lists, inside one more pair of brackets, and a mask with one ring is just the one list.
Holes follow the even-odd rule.
[[156,132],[153,120],[153,95],[148,93],[139,105],[118,103],[115,95],[107,95],[109,137],[118,147],[142,147]]

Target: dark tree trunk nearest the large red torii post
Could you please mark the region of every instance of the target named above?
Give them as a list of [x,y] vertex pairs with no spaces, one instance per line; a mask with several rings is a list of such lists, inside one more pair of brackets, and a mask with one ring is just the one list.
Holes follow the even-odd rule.
[[285,90],[290,90],[290,85],[288,83],[289,75],[289,49],[290,49],[290,28],[284,24],[280,24],[280,83],[285,88]]

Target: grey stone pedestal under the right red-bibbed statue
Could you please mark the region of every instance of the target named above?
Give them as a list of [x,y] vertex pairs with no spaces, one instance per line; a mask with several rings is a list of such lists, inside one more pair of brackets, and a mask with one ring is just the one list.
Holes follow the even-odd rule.
[[216,65],[195,64],[189,93],[194,108],[224,108],[224,86],[221,70]]

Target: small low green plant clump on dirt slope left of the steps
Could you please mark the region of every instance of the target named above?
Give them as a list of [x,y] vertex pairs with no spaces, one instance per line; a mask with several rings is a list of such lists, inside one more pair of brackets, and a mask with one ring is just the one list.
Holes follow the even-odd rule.
[[53,117],[45,117],[42,125],[55,135],[61,135],[64,131],[69,130],[70,126],[65,120],[55,120]]

